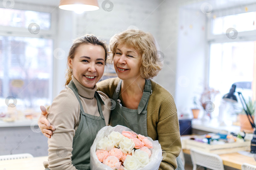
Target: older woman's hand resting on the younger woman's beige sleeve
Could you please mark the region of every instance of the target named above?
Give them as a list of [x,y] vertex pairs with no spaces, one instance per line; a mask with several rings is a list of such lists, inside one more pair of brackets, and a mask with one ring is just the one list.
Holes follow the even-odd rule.
[[55,127],[47,120],[48,112],[44,106],[40,106],[41,115],[38,119],[38,126],[41,129],[42,134],[47,138],[51,138],[52,131],[55,130]]

